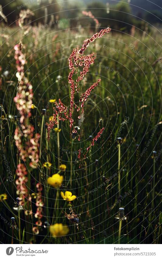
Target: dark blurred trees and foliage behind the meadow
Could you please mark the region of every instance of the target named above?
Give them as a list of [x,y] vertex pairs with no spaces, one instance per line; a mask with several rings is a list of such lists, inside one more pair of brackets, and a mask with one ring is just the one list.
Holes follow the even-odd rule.
[[[154,0],[154,3],[147,0],[16,0],[12,2],[10,0],[0,0],[0,5],[2,5],[3,13],[10,25],[14,25],[22,9],[30,9],[34,12],[32,17],[33,25],[48,23],[51,20],[80,17],[82,27],[95,27],[92,19],[81,15],[82,10],[91,11],[98,18],[102,27],[107,27],[111,24],[111,27],[117,31],[129,32],[132,25],[144,30],[146,22],[157,25],[160,25],[162,22],[161,0]],[[77,26],[77,20],[70,20],[68,27],[75,26]]]

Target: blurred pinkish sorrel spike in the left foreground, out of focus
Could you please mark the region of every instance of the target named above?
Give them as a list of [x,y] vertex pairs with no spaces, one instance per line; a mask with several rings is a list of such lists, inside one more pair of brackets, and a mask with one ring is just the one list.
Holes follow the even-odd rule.
[[[40,134],[34,135],[34,127],[29,124],[29,117],[31,117],[31,106],[33,97],[33,87],[29,80],[24,74],[24,65],[26,64],[25,55],[22,53],[22,44],[16,44],[15,49],[15,59],[17,73],[16,77],[19,81],[18,92],[16,97],[14,97],[14,102],[16,103],[16,108],[19,111],[19,127],[15,130],[15,143],[19,151],[19,156],[23,162],[29,157],[31,162],[30,167],[36,168],[39,159],[39,143]],[[17,165],[16,174],[18,179],[16,179],[17,194],[24,200],[24,197],[28,196],[28,189],[26,187],[26,182],[28,178],[26,177],[27,169],[25,164],[19,163]]]

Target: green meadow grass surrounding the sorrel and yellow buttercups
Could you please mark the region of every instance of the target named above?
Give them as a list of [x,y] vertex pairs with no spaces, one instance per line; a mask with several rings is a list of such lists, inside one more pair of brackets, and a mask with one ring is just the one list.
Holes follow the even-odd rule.
[[[50,99],[60,98],[66,106],[70,105],[68,57],[74,47],[81,45],[93,33],[84,28],[62,31],[42,29],[37,32],[30,30],[24,36],[23,31],[17,30],[15,27],[8,29],[8,40],[0,38],[1,154],[5,156],[12,172],[10,181],[4,156],[1,156],[0,194],[6,193],[8,196],[7,200],[0,203],[3,243],[11,243],[12,240],[12,228],[8,224],[10,218],[15,217],[16,225],[20,225],[18,212],[13,210],[17,197],[15,172],[19,164],[14,140],[19,115],[13,98],[18,84],[15,60],[10,62],[14,58],[14,45],[19,41],[24,46],[23,53],[27,61],[25,76],[33,85],[33,104],[36,106],[31,110],[30,123],[36,133],[41,133],[42,140],[38,167],[32,169],[29,160],[26,161],[27,187],[31,195],[37,193],[38,181],[42,183],[44,206],[41,219],[43,225],[39,227],[39,234],[34,234],[35,198],[31,202],[26,200],[25,210],[19,210],[21,229],[20,232],[14,229],[13,243],[19,243],[19,235],[21,243],[118,243],[119,221],[115,215],[119,207],[124,207],[127,217],[122,222],[120,243],[159,243],[161,161],[159,158],[156,163],[153,162],[153,150],[158,153],[161,149],[162,73],[158,63],[154,67],[151,64],[161,53],[160,35],[155,31],[149,35],[136,31],[133,37],[112,30],[112,33],[97,39],[86,50],[87,54],[94,51],[96,59],[81,81],[80,91],[85,92],[98,78],[101,78],[101,82],[85,104],[83,152],[91,143],[89,136],[94,137],[102,127],[105,130],[79,169],[80,143],[77,138],[71,138],[69,122],[60,122],[61,131],[52,131],[49,142],[45,123],[49,122],[53,114]],[[131,49],[131,44],[150,64]],[[5,76],[3,71],[8,64],[9,74]],[[42,109],[46,109],[45,115]],[[74,119],[74,126],[78,126],[77,114]],[[120,163],[117,137],[122,138]],[[51,167],[43,167],[46,161],[52,164]],[[64,176],[61,190],[47,184],[47,178],[59,172],[58,163],[66,164],[67,167],[66,171],[61,172]],[[71,191],[77,199],[71,202],[63,200],[60,191],[65,190]],[[71,208],[78,215],[78,225],[65,217]],[[32,211],[32,215],[25,211]],[[62,238],[50,236],[49,225],[54,223],[68,225],[68,235]]]

